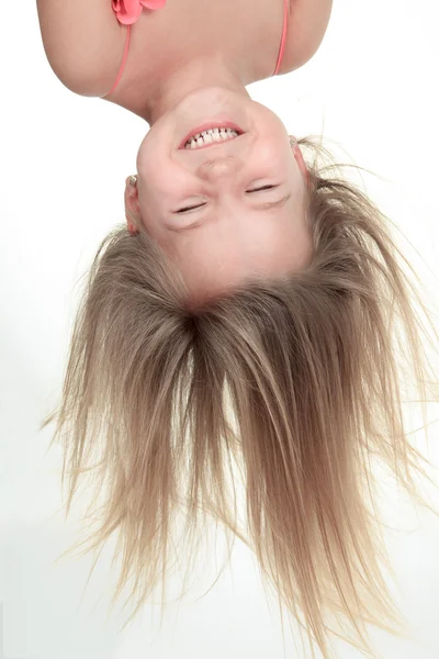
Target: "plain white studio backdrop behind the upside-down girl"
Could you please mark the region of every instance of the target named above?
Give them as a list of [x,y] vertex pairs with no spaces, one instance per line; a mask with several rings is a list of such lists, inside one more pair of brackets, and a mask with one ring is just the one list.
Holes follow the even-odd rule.
[[[238,543],[215,588],[195,601],[210,585],[203,579],[161,628],[153,605],[123,632],[120,612],[106,615],[110,552],[85,593],[91,558],[54,562],[75,525],[57,514],[60,454],[47,453],[52,428],[38,432],[38,424],[60,391],[79,278],[101,238],[124,221],[124,180],[135,172],[146,124],[66,89],[46,60],[35,3],[22,7],[13,21],[3,14],[0,46],[0,659],[304,659],[292,634],[283,647],[275,606]],[[329,147],[380,175],[364,174],[367,189],[421,255],[425,263],[407,252],[434,292],[438,19],[432,0],[335,0],[312,62],[250,88],[292,134],[324,131]],[[438,428],[431,425],[432,444]],[[434,446],[439,467],[438,453]],[[389,515],[402,529],[389,547],[410,638],[373,638],[385,659],[437,659],[439,520],[410,511]],[[207,576],[214,557],[212,565]],[[337,647],[340,659],[361,657]]]

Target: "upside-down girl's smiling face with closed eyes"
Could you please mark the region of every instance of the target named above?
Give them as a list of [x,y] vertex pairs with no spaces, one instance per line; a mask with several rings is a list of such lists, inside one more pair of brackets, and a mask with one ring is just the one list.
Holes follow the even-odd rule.
[[[239,136],[184,148],[190,135],[227,125]],[[147,133],[137,172],[132,210],[195,294],[309,261],[302,154],[279,118],[247,96],[218,87],[191,92]]]

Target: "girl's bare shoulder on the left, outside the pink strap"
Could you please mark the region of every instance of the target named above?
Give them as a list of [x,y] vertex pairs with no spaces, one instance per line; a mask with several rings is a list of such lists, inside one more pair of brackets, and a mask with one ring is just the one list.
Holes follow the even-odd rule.
[[103,96],[121,64],[126,27],[111,0],[36,0],[48,63],[59,80],[82,96]]

